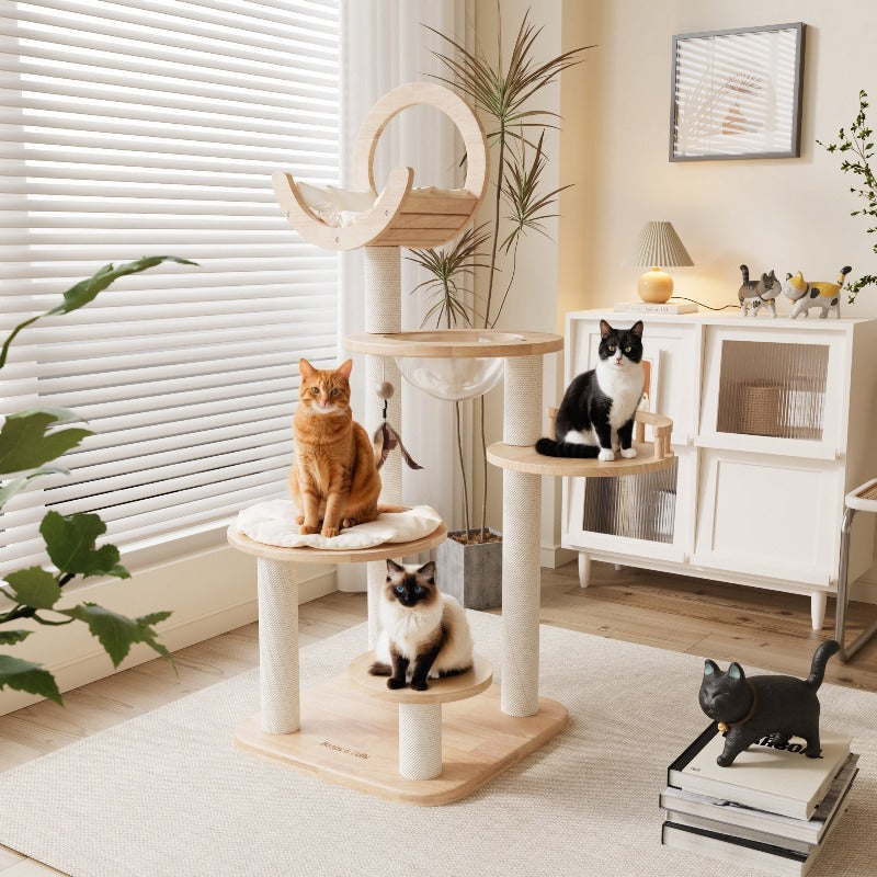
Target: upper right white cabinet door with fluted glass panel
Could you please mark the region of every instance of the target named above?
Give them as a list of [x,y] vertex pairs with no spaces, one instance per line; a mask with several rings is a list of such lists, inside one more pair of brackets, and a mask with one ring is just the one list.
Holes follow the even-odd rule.
[[697,444],[838,458],[847,346],[845,332],[816,327],[707,327]]

